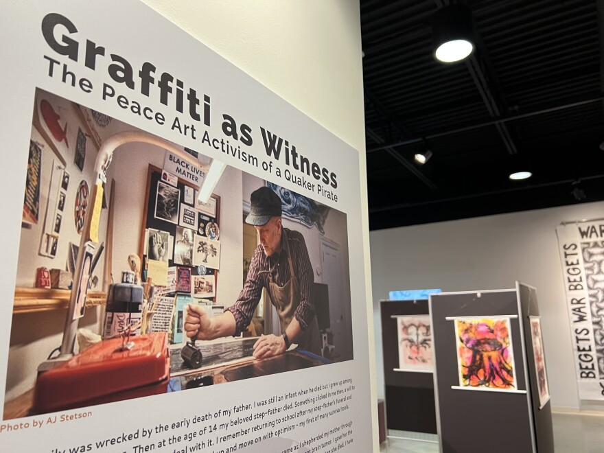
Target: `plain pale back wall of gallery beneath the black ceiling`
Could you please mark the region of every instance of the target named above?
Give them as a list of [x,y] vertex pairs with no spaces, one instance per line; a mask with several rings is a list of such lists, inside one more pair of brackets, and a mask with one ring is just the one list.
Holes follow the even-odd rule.
[[553,408],[604,410],[577,394],[556,235],[560,222],[601,218],[603,210],[604,202],[594,202],[372,231],[378,394],[384,394],[379,301],[389,291],[497,290],[520,280],[537,288]]

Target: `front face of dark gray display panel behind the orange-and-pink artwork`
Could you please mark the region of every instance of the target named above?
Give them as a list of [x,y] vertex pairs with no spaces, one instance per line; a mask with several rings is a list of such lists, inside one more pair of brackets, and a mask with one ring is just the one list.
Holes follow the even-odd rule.
[[[515,290],[430,295],[441,452],[535,452],[533,419],[526,394],[524,335],[518,316]],[[492,387],[458,389],[461,379],[454,319],[497,317],[509,320],[515,387],[496,391],[492,391]],[[489,357],[495,360],[496,354],[491,348],[481,356],[480,351],[485,349],[489,348],[475,348],[476,361],[480,356],[483,363],[489,364]]]

